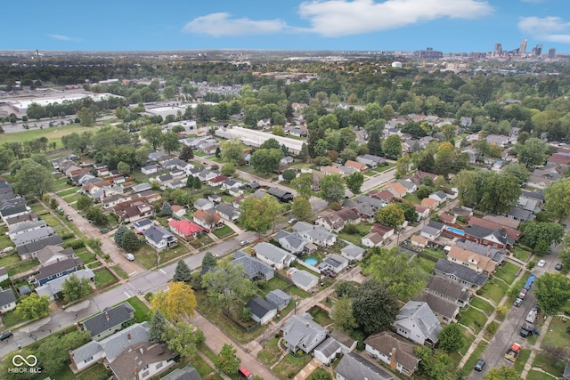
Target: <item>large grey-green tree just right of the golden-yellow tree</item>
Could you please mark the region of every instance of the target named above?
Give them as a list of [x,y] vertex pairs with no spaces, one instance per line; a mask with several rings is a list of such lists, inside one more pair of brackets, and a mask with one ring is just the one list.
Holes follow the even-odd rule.
[[206,289],[208,301],[216,308],[232,311],[240,299],[256,294],[256,286],[244,277],[243,266],[224,263],[202,276],[202,287]]

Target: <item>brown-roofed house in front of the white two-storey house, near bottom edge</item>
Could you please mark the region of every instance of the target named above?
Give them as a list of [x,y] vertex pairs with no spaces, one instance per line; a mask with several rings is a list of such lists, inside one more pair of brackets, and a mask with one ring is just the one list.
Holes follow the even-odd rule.
[[419,358],[413,352],[415,347],[392,332],[384,331],[364,340],[366,352],[390,369],[404,376],[411,376],[418,369]]

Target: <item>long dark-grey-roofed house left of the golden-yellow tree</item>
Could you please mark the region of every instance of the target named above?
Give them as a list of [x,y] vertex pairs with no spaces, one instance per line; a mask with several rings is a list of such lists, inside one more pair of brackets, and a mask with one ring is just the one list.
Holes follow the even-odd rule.
[[85,319],[81,324],[89,331],[95,341],[112,336],[123,329],[123,324],[134,319],[134,309],[130,303],[124,302],[111,308],[105,308],[99,314]]

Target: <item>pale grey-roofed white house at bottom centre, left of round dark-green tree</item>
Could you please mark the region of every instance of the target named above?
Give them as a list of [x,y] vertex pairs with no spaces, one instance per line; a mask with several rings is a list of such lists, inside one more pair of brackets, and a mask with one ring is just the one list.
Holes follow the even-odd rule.
[[327,330],[314,322],[311,314],[294,315],[281,328],[283,344],[289,352],[310,353],[327,338]]

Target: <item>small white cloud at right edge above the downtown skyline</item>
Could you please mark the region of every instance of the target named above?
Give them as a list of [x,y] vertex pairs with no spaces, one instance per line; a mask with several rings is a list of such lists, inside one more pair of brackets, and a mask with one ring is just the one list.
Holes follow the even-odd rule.
[[521,17],[518,29],[537,39],[570,44],[570,22],[556,16]]

